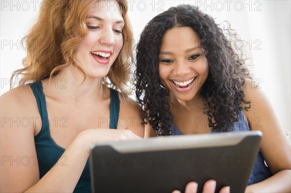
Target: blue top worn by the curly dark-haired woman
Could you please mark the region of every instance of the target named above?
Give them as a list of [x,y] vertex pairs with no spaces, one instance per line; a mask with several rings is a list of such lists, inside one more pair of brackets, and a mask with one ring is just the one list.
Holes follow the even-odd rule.
[[[234,123],[233,130],[231,132],[245,132],[250,131],[247,121],[241,111],[238,115],[239,121]],[[219,133],[219,131],[212,131],[211,133]],[[181,135],[182,133],[178,130],[174,123],[171,124],[171,135]],[[259,150],[256,157],[256,161],[251,172],[250,178],[247,185],[258,183],[272,176],[268,166],[265,164],[265,160]]]

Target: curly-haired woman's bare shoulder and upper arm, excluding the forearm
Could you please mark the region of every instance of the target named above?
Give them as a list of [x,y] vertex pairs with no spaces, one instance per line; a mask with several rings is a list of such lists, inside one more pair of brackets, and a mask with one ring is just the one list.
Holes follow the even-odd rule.
[[262,132],[261,152],[270,171],[275,174],[290,169],[290,143],[281,128],[275,110],[261,87],[249,81],[245,87],[245,98],[251,107],[245,112],[251,130]]

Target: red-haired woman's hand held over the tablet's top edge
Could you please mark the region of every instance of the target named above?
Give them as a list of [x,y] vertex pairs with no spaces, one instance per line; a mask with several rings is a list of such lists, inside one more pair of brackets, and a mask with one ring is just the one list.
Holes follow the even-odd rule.
[[81,144],[84,144],[89,154],[91,145],[98,142],[143,139],[127,129],[87,129],[81,132],[76,138],[78,138]]

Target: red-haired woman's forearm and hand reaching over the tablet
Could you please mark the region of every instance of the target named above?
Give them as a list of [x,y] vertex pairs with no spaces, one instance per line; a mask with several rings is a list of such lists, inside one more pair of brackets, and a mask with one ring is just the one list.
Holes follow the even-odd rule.
[[[60,159],[49,172],[26,192],[73,192],[90,155],[90,146],[100,141],[134,140],[140,137],[127,130],[88,129],[81,132],[65,150],[66,165]],[[52,186],[53,184],[53,186]]]

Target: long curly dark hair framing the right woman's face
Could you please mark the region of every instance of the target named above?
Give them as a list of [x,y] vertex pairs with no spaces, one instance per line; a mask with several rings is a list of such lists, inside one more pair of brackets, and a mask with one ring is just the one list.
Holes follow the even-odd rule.
[[[209,74],[201,88],[204,112],[211,131],[232,130],[242,111],[245,99],[244,85],[250,78],[242,50],[229,44],[237,34],[230,27],[221,29],[214,19],[197,7],[181,4],[155,16],[146,25],[136,46],[136,97],[143,107],[143,116],[158,135],[170,135],[172,114],[169,90],[159,77],[159,52],[166,30],[191,27],[199,36],[209,64]],[[228,39],[227,39],[228,36]]]

